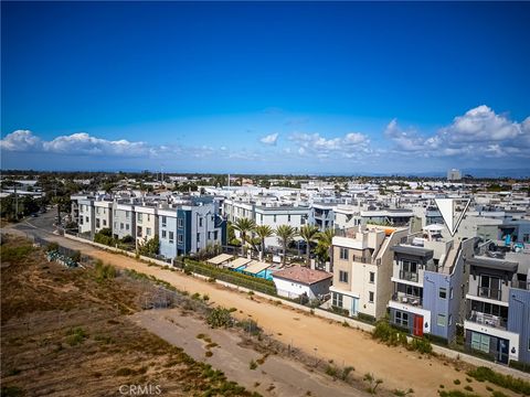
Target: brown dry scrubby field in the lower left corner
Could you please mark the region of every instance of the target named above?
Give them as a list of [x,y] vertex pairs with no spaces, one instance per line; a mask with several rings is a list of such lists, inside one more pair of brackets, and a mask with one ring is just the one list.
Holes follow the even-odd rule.
[[2,396],[252,395],[127,320],[145,282],[49,264],[20,239],[1,249]]

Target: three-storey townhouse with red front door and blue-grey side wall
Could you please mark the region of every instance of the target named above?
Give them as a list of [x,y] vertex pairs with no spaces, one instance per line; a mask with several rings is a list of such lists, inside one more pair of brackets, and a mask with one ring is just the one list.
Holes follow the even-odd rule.
[[392,324],[415,336],[431,334],[451,342],[464,316],[464,259],[473,256],[476,240],[446,239],[442,230],[439,225],[426,226],[391,248],[389,312]]

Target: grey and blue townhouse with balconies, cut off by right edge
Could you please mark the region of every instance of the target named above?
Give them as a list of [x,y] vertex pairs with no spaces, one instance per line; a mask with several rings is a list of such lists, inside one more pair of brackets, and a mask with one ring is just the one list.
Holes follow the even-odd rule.
[[490,255],[485,253],[466,260],[469,268],[464,322],[466,347],[500,363],[530,364],[528,254],[521,254],[519,262]]

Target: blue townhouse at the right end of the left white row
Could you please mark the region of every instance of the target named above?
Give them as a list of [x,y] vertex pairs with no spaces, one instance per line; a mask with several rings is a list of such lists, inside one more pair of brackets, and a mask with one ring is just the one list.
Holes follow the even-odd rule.
[[226,244],[226,221],[211,197],[192,197],[159,208],[160,255],[174,258],[197,254],[208,245]]

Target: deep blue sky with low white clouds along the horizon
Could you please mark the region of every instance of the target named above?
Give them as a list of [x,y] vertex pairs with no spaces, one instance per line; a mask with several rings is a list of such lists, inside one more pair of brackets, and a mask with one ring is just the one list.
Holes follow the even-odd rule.
[[1,8],[4,169],[392,173],[530,160],[530,3]]

